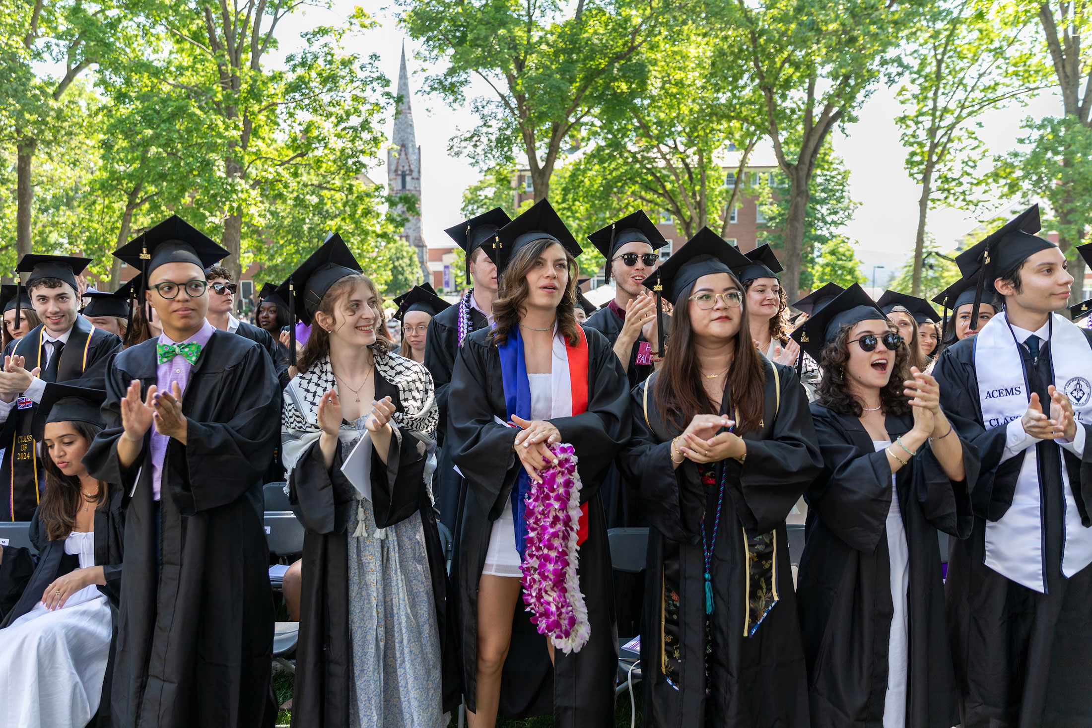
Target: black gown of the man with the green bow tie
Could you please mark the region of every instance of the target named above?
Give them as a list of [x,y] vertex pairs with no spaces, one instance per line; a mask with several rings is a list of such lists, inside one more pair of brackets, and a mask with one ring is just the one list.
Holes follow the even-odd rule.
[[84,457],[92,475],[124,489],[115,725],[272,726],[261,476],[280,440],[273,365],[253,342],[213,332],[182,394],[188,444],[167,444],[158,505],[149,437],[128,469],[117,456],[119,403],[133,379],[142,397],[156,383],[156,339],[114,358],[106,429]]

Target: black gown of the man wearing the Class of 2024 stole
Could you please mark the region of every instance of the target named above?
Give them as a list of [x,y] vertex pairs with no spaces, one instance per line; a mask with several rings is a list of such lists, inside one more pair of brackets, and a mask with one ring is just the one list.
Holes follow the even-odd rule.
[[[108,331],[94,327],[78,313],[55,370],[45,366],[41,356],[44,330],[45,324],[38,324],[28,334],[12,342],[14,353],[26,359],[27,371],[40,367],[38,377],[46,382],[66,382],[102,390],[109,357],[121,349],[121,339]],[[3,462],[0,463],[0,503],[3,503],[0,505],[0,521],[29,521],[41,500],[45,476],[37,455],[37,441],[32,434],[36,417],[39,417],[37,404],[26,409],[19,409],[13,404],[7,421],[0,426],[0,446],[5,447]]]

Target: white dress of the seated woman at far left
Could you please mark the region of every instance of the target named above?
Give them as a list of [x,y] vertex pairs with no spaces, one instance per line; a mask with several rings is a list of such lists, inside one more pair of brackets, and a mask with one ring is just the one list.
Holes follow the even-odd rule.
[[[95,565],[94,532],[69,534],[64,552]],[[83,728],[98,709],[110,652],[110,606],[95,585],[55,611],[38,601],[0,630],[0,728]]]

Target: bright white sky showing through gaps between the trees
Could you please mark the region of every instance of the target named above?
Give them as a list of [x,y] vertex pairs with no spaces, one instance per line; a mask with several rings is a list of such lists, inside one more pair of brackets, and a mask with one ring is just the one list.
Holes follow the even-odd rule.
[[[342,22],[357,4],[360,3],[354,0],[339,0],[333,11],[307,9],[293,27],[305,31],[316,25]],[[349,39],[348,49],[378,53],[381,69],[390,77],[393,88],[397,82],[399,53],[405,40],[414,122],[417,143],[422,147],[424,237],[426,242],[434,244],[446,242],[448,238],[443,228],[461,219],[459,210],[463,190],[479,177],[468,159],[448,154],[448,140],[458,128],[472,128],[475,117],[466,108],[449,108],[442,99],[423,95],[422,82],[429,69],[413,57],[415,45],[405,39],[397,28],[393,10],[380,10],[378,3],[366,4],[365,8],[381,22],[381,27],[363,38]],[[298,48],[300,43],[298,37],[285,36],[281,44],[282,55]],[[867,275],[871,275],[873,265],[887,266],[878,275],[880,281],[885,273],[892,272],[912,253],[917,227],[921,188],[911,181],[903,167],[905,151],[894,123],[899,112],[894,89],[878,88],[862,107],[859,121],[850,126],[845,135],[839,133],[833,139],[834,151],[845,160],[851,172],[850,194],[860,203],[854,219],[843,232],[858,241],[857,254],[865,264]],[[989,145],[992,154],[1004,153],[1017,145],[1017,139],[1022,135],[1020,124],[1024,117],[1059,112],[1060,103],[1052,95],[1044,95],[1024,108],[1013,106],[985,115],[980,134]],[[390,126],[389,122],[388,129]],[[385,181],[385,169],[377,168],[371,177],[376,181]],[[998,200],[996,205],[985,206],[977,214],[983,218],[993,217],[1012,202]],[[941,244],[954,243],[977,223],[978,217],[973,211],[936,208],[929,213],[928,231]]]

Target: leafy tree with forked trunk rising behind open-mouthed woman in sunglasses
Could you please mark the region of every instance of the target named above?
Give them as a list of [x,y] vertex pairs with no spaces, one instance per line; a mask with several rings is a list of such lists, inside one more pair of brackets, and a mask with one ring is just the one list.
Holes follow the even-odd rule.
[[806,288],[811,182],[830,132],[855,112],[893,60],[917,5],[898,0],[735,0],[713,4],[709,26],[724,49],[720,73],[743,77],[788,178],[782,241],[791,294]]

